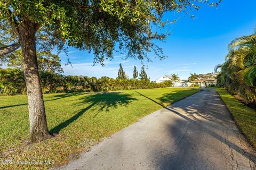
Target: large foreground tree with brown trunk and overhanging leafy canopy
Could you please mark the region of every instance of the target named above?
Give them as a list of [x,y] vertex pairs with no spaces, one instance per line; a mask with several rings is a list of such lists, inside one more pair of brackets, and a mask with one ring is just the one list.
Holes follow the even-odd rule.
[[[217,3],[199,1],[217,6]],[[39,81],[37,50],[58,50],[73,46],[93,50],[94,63],[113,58],[116,45],[126,57],[149,59],[148,52],[164,58],[153,40],[164,40],[166,33],[154,31],[166,23],[165,12],[199,9],[192,0],[183,1],[1,1],[0,55],[21,46],[23,71],[28,92],[30,141],[50,138],[47,129],[42,88]],[[13,43],[13,44],[10,44]],[[37,43],[37,46],[36,46]],[[4,60],[4,57],[1,57]]]

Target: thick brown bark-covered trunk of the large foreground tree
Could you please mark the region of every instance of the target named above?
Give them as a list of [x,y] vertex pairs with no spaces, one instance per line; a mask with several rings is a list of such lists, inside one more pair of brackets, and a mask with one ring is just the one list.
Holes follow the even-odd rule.
[[39,81],[35,43],[36,24],[25,19],[18,26],[18,32],[28,94],[30,141],[38,142],[50,138],[51,135],[47,129],[44,100]]

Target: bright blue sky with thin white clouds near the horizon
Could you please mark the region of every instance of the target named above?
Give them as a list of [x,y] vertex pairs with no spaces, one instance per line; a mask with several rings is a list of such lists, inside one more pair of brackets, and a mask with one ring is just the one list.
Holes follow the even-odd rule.
[[[155,80],[163,74],[178,74],[181,79],[187,79],[189,73],[209,73],[214,66],[225,61],[227,45],[239,36],[250,35],[256,26],[255,0],[223,0],[218,8],[203,5],[199,11],[193,11],[194,19],[190,15],[178,20],[167,28],[171,35],[166,42],[157,45],[163,48],[168,56],[160,61],[144,61],[150,80]],[[177,16],[174,12],[167,13],[164,19],[173,20]],[[93,54],[69,48],[69,58],[73,65],[65,66],[67,56],[60,54],[65,75],[87,75],[89,77],[108,76],[117,77],[119,63],[124,71],[132,78],[133,66],[140,70],[141,61],[128,59],[115,54],[113,61],[106,61],[105,67],[93,65]]]

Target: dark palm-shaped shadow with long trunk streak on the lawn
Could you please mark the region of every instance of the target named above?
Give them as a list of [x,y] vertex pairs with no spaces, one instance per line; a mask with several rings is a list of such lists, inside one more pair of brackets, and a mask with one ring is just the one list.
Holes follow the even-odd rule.
[[[133,100],[137,99],[131,97],[131,95],[129,94],[124,94],[121,92],[98,92],[96,94],[83,96],[78,100],[79,102],[76,104],[77,106],[81,106],[84,104],[89,104],[89,106],[81,109],[77,114],[70,117],[65,122],[62,122],[59,125],[55,126],[50,131],[51,133],[58,133],[63,128],[66,128],[69,124],[77,120],[80,116],[82,116],[87,110],[91,109],[93,106],[96,106],[95,109],[98,109],[99,112],[109,112],[110,109],[117,108],[120,106],[126,106],[130,104]],[[95,114],[93,117],[96,117],[99,114],[99,112],[97,112],[97,114]]]

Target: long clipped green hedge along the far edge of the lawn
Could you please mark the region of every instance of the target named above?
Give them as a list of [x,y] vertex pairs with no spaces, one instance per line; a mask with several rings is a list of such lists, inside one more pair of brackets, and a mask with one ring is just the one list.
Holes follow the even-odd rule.
[[[5,95],[24,94],[25,81],[23,73],[19,69],[1,69],[1,87],[4,89],[9,87],[10,92],[2,93]],[[92,77],[78,77],[73,75],[64,76],[54,72],[40,71],[41,85],[43,92],[85,92],[85,91],[115,91],[129,89],[149,89],[171,87],[172,81],[164,81],[162,83],[150,82],[149,80],[137,79],[112,79],[101,77],[99,79]]]

